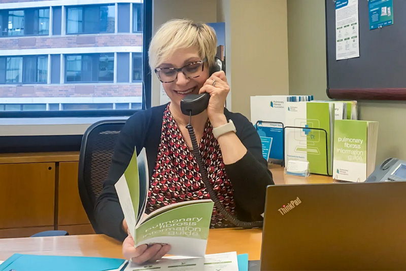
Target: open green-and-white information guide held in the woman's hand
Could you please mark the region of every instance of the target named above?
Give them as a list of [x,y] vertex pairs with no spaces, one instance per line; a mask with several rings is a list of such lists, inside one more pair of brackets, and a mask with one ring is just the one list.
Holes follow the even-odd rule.
[[148,165],[145,149],[137,152],[115,184],[129,232],[137,246],[170,244],[168,254],[202,257],[209,236],[213,201],[179,202],[145,214],[148,198]]

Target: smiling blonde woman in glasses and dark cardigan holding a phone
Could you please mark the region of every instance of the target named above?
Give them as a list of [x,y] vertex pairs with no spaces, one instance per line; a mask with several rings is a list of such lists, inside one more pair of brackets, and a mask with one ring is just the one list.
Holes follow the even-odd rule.
[[[137,112],[128,119],[95,208],[101,231],[120,241],[125,239],[123,254],[137,263],[155,261],[170,247],[157,244],[134,248],[134,241],[127,236],[114,184],[124,173],[134,146],[138,152],[145,147],[147,153],[147,213],[176,202],[210,199],[190,151],[192,144],[186,129],[189,117],[180,110],[180,101],[187,94],[210,94],[207,110],[193,116],[191,124],[219,199],[241,220],[261,219],[265,188],[274,184],[272,174],[262,158],[261,142],[253,125],[243,115],[224,108],[230,90],[226,76],[223,71],[209,74],[216,51],[214,30],[189,20],[168,21],[152,38],[149,64],[171,102]],[[217,134],[216,138],[213,129],[227,125],[229,120],[236,132]],[[211,227],[229,226],[232,224],[214,208]]]

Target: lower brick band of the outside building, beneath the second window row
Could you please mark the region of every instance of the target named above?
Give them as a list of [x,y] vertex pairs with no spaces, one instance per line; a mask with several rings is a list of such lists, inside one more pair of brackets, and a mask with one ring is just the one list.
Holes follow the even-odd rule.
[[142,95],[142,83],[94,85],[0,85],[0,98],[129,97]]

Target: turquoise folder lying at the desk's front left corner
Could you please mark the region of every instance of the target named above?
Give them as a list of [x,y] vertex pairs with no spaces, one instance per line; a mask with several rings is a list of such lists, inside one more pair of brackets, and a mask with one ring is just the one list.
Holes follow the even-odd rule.
[[107,271],[118,269],[125,260],[96,257],[14,254],[0,264],[0,271]]

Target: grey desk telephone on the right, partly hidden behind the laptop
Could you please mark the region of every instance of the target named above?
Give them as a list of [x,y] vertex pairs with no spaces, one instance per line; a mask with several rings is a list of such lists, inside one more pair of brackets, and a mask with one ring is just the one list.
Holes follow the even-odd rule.
[[406,181],[406,161],[389,158],[379,165],[365,182]]

